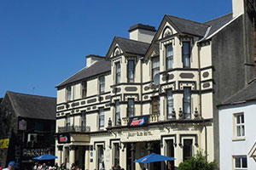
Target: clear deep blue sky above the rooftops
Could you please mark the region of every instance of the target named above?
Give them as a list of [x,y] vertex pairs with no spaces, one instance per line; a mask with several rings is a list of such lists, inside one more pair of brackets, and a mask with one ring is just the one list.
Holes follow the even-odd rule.
[[113,37],[128,38],[137,23],[158,28],[165,14],[204,22],[231,10],[231,0],[1,0],[0,97],[55,97],[85,55],[107,54]]

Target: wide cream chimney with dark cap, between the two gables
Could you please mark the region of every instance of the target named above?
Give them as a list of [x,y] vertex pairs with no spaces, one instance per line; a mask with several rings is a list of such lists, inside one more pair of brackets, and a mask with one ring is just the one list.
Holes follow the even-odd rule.
[[137,24],[131,26],[129,32],[131,40],[150,43],[154,37],[155,28],[154,26]]

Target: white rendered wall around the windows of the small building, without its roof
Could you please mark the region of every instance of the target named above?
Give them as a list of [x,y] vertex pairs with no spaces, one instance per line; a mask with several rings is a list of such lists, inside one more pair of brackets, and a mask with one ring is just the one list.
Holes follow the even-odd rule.
[[[232,105],[219,111],[220,169],[232,169],[232,156],[247,156],[256,141],[256,104]],[[233,140],[233,114],[244,113],[245,140]],[[247,169],[256,169],[256,162],[247,156]]]

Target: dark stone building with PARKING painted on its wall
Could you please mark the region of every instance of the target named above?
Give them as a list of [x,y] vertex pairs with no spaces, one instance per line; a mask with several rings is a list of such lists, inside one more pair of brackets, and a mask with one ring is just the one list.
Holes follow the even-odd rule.
[[0,166],[15,161],[19,169],[31,169],[33,157],[55,154],[55,107],[55,98],[6,92],[0,103]]

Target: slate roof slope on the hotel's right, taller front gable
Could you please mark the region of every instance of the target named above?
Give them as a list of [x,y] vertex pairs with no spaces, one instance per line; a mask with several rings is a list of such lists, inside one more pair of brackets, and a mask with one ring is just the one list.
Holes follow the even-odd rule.
[[174,26],[174,29],[186,34],[204,37],[207,31],[207,28],[209,27],[203,23],[195,22],[193,20],[178,18],[176,16],[172,16],[168,14],[166,14],[166,17],[169,21],[171,21],[172,26]]

